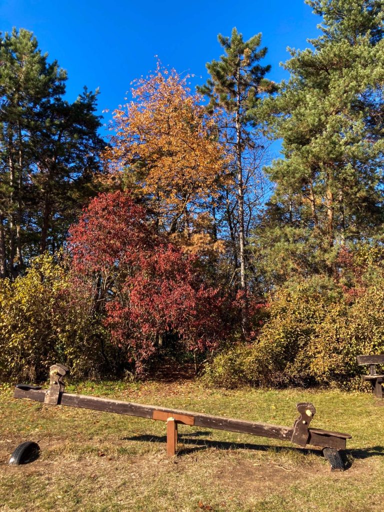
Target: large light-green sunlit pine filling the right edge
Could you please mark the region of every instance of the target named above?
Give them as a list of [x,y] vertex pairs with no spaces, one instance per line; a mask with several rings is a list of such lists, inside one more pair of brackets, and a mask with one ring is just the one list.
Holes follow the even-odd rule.
[[279,211],[276,243],[306,240],[330,262],[340,244],[382,232],[384,4],[306,3],[323,16],[322,33],[313,49],[290,50],[290,79],[262,106],[283,139],[283,158],[269,168],[276,190],[267,215]]

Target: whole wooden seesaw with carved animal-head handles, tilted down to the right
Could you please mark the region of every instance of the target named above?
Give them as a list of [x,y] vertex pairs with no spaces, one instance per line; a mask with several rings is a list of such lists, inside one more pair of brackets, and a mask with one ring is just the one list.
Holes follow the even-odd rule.
[[316,412],[312,403],[297,403],[296,407],[300,417],[296,419],[292,427],[289,427],[66,393],[63,379],[68,373],[69,369],[66,366],[53,365],[50,369],[50,385],[47,390],[37,386],[18,384],[14,390],[14,397],[28,398],[51,405],[80,407],[82,409],[165,421],[167,426],[167,455],[169,457],[176,454],[177,427],[178,424],[183,424],[281,439],[282,441],[291,441],[302,447],[308,445],[321,447],[323,448],[324,457],[331,464],[332,470],[345,469],[340,450],[345,450],[346,440],[350,439],[351,436],[323,429],[310,429],[309,424]]

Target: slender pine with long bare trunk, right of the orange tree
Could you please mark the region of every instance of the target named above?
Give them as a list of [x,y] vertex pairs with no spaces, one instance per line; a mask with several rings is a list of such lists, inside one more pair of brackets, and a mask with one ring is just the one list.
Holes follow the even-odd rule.
[[[267,53],[267,48],[261,48],[261,34],[254,35],[244,41],[243,35],[233,28],[231,37],[218,36],[225,54],[220,60],[208,62],[206,67],[210,78],[206,84],[199,87],[201,94],[209,97],[208,109],[223,109],[227,115],[222,132],[232,154],[233,178],[236,182],[237,222],[233,220],[233,208],[229,204],[227,191],[227,222],[232,241],[235,238],[236,224],[239,232],[239,260],[241,289],[246,291],[246,225],[245,225],[245,194],[246,181],[245,160],[249,152],[260,149],[254,132],[250,130],[255,118],[249,116],[258,103],[262,92],[273,90],[273,83],[265,78],[270,66],[262,66],[260,60]],[[261,148],[262,149],[262,148]],[[257,161],[254,157],[253,163]],[[248,169],[249,170],[249,169]],[[249,176],[248,176],[249,177]],[[237,259],[237,258],[236,258]]]

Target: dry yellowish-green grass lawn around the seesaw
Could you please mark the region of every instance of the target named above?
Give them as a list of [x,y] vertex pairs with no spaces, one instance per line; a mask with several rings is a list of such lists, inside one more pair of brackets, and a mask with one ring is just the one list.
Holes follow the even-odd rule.
[[[69,392],[109,396],[293,425],[312,401],[313,428],[352,434],[351,466],[331,473],[320,451],[181,425],[179,456],[166,457],[165,423],[15,400],[0,391],[0,510],[379,511],[384,503],[384,407],[372,395],[312,390],[209,390],[199,382],[80,383]],[[8,466],[37,441],[39,459]]]

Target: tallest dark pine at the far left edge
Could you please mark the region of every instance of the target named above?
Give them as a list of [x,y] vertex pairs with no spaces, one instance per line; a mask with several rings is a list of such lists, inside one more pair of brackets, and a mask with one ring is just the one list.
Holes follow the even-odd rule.
[[36,126],[40,105],[63,93],[66,74],[56,62],[48,64],[36,39],[26,30],[5,34],[0,45],[0,274],[4,276],[24,266],[23,193],[33,150],[27,134]]

